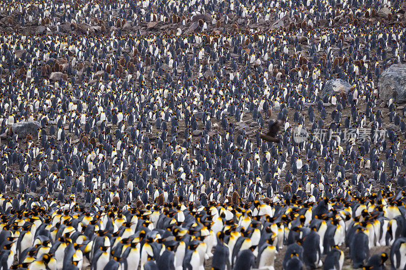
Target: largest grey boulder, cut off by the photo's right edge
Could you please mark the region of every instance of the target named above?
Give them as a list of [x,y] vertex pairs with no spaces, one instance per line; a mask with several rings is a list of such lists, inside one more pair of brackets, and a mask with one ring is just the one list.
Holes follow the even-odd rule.
[[394,64],[385,69],[379,77],[380,97],[387,102],[406,102],[406,65]]

